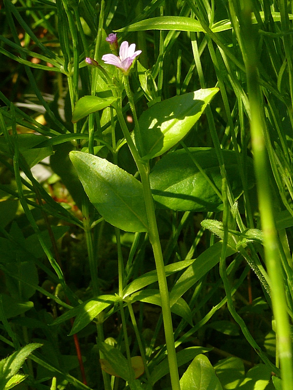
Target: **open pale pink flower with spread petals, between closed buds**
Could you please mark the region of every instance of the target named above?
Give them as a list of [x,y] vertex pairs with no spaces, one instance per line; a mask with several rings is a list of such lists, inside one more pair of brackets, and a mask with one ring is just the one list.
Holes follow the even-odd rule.
[[114,54],[105,54],[102,59],[106,64],[115,65],[117,68],[122,69],[123,73],[127,75],[133,60],[141,52],[141,50],[135,51],[135,43],[128,46],[128,42],[125,40],[121,43],[119,57],[114,56]]

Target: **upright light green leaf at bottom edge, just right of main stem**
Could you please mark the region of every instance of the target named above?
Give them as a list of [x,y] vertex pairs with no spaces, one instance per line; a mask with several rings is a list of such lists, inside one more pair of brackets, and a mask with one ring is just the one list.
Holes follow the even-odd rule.
[[205,355],[196,356],[180,379],[184,390],[223,390],[219,379]]

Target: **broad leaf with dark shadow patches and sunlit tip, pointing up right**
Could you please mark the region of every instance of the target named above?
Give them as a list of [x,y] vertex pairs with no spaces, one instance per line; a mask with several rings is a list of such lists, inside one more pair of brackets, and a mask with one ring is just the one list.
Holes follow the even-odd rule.
[[152,105],[139,118],[134,139],[143,159],[161,156],[187,135],[218,88],[200,89]]

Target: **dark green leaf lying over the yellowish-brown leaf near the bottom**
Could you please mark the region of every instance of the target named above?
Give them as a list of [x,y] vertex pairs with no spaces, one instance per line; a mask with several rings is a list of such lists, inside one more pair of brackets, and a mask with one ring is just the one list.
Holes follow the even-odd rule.
[[102,342],[97,342],[97,345],[117,376],[127,382],[134,379],[134,372],[129,372],[127,360],[117,348]]

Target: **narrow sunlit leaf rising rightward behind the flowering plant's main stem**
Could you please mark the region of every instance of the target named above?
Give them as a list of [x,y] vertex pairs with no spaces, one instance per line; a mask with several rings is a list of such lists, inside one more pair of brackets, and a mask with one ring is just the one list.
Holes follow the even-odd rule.
[[[190,264],[192,264],[194,259],[191,260],[183,260],[183,261],[177,261],[176,263],[168,264],[165,267],[165,273],[166,276],[171,275],[172,273],[178,272],[183,270],[184,268],[187,268]],[[145,273],[142,276],[139,276],[138,278],[134,279],[128,286],[125,287],[123,291],[123,298],[125,299],[128,295],[132,294],[133,292],[136,292],[138,290],[143,289],[144,287],[148,286],[151,283],[158,281],[158,275],[157,271],[150,271]]]

